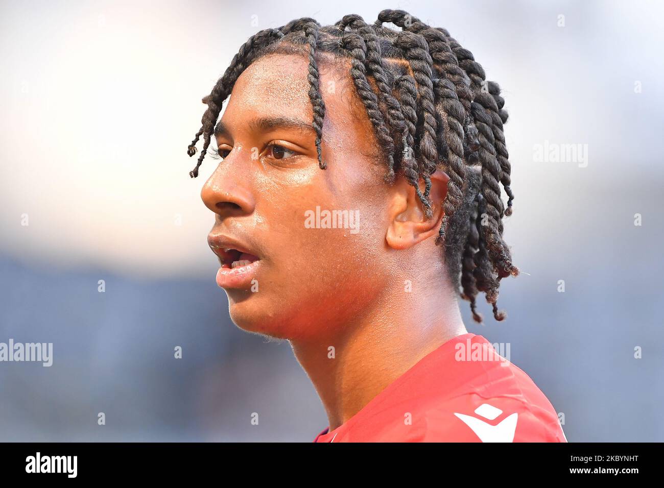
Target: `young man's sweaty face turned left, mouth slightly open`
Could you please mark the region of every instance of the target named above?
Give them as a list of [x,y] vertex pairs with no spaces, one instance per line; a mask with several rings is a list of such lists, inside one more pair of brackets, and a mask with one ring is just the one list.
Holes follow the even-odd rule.
[[[220,270],[217,277],[231,318],[247,331],[306,339],[321,332],[310,326],[325,324],[332,333],[361,315],[390,277],[386,167],[342,66],[319,64],[325,171],[311,128],[305,56],[254,62],[238,78],[220,120],[216,142],[224,160],[201,196],[216,214],[210,243],[222,248],[222,266],[224,258],[258,258],[246,272]],[[345,211],[359,222],[351,221],[355,229],[311,228],[307,214],[317,207]]]

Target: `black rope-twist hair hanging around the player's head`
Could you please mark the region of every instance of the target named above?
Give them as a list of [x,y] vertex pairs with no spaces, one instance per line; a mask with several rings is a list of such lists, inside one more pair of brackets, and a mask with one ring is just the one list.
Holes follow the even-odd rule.
[[[325,169],[321,153],[325,102],[318,64],[327,56],[321,53],[349,62],[357,96],[386,163],[386,181],[404,177],[430,217],[431,175],[442,169],[450,176],[436,238],[444,249],[448,279],[470,302],[475,321],[482,321],[476,310],[480,292],[491,304],[494,318],[503,320],[505,312],[496,303],[500,280],[519,274],[503,240],[503,217],[511,215],[514,200],[503,133],[505,100],[498,84],[486,80],[473,54],[446,29],[426,25],[405,11],[388,9],[373,24],[359,15],[346,15],[335,25],[323,27],[303,17],[256,33],[240,46],[226,72],[203,98],[207,110],[187,154],[197,153],[201,135],[203,150],[190,176],[198,176],[218,116],[238,76],[254,60],[270,54],[295,54],[309,60],[311,125],[319,167]],[[507,208],[500,185],[507,195]]]

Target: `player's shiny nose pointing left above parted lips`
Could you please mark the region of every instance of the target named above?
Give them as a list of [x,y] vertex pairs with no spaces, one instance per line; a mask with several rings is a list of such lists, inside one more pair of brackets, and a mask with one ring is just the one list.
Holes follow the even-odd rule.
[[248,181],[250,169],[232,166],[226,161],[218,165],[201,190],[205,206],[221,218],[251,214],[256,205]]

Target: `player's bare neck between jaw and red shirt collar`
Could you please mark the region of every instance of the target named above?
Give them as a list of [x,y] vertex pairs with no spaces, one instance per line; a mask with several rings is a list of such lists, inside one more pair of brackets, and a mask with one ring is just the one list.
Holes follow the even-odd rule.
[[[404,293],[403,284],[395,284],[360,317],[335,327],[341,332],[291,341],[327,411],[329,430],[347,422],[420,359],[467,333],[449,286],[427,282],[416,288],[414,282],[413,289],[429,291]],[[322,326],[319,330],[325,330]]]

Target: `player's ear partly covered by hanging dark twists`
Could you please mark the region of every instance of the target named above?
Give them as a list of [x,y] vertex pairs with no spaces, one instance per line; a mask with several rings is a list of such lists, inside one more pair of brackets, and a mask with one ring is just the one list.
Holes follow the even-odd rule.
[[[386,242],[393,249],[408,249],[418,242],[434,235],[442,224],[445,212],[443,202],[448,195],[448,181],[450,177],[438,169],[431,175],[431,200],[433,214],[426,218],[422,202],[415,192],[415,188],[401,177],[394,183],[390,192],[388,205],[388,222]],[[420,180],[420,191],[424,193],[424,181]]]

